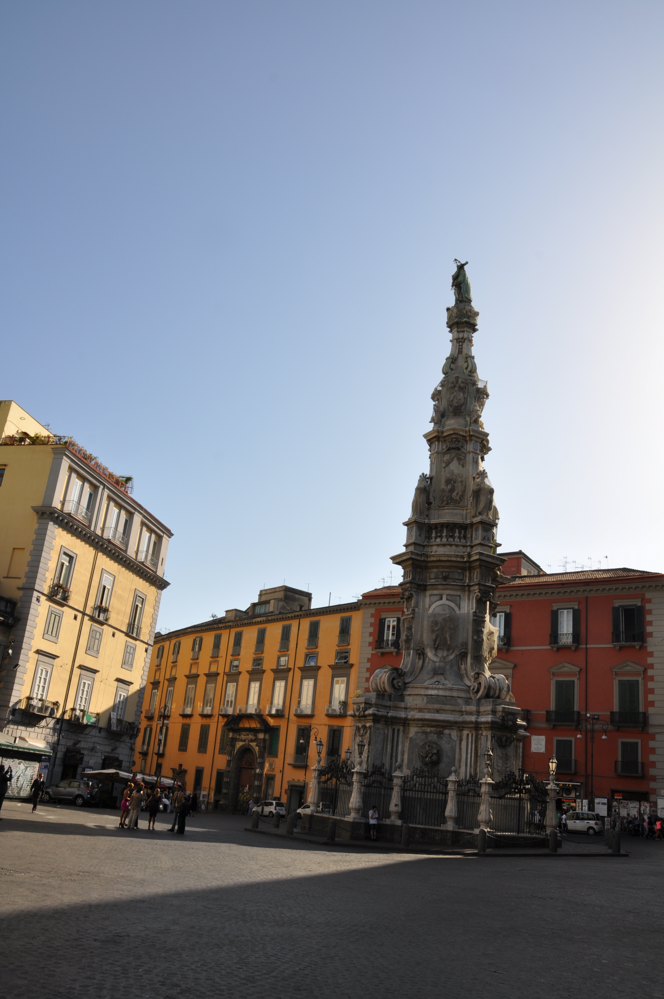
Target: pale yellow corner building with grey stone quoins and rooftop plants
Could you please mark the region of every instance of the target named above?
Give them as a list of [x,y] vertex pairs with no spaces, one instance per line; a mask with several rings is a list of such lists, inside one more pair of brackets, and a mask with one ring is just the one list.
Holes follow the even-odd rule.
[[0,752],[28,761],[10,793],[35,761],[49,782],[132,767],[172,535],[131,486],[0,402]]

